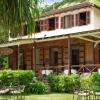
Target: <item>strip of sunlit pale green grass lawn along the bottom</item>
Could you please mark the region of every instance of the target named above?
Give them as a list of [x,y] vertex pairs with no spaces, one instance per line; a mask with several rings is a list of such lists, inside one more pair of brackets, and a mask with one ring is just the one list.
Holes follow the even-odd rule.
[[[1,97],[0,97],[1,98]],[[16,99],[16,98],[15,98]],[[13,97],[11,100],[15,100]],[[9,100],[9,99],[7,99]],[[73,100],[72,94],[45,94],[45,95],[27,95],[25,100]]]

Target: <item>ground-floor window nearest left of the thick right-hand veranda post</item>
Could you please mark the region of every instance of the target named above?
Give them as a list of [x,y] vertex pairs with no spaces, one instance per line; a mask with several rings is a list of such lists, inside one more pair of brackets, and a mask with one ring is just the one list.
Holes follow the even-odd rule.
[[52,66],[58,65],[58,48],[51,48],[50,49],[50,61]]

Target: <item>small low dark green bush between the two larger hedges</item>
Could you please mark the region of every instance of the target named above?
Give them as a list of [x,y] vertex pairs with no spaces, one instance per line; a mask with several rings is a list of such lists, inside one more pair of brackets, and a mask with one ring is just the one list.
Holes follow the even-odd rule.
[[48,85],[43,82],[31,83],[25,88],[26,93],[44,94],[48,92]]

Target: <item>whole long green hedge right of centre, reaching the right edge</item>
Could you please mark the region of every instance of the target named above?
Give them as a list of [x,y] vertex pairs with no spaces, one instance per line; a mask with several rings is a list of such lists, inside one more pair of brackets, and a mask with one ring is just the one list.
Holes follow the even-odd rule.
[[100,74],[79,77],[78,75],[49,75],[47,77],[52,92],[72,93],[76,88],[100,92]]

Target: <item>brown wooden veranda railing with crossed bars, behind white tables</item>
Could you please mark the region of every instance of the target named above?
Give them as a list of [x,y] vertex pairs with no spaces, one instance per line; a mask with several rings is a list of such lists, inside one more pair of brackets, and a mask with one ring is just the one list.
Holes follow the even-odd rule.
[[[100,64],[86,64],[86,65],[72,65],[71,70],[76,70],[77,74],[98,72]],[[63,73],[64,70],[68,70],[68,65],[65,66],[39,66],[37,71],[41,74],[43,70],[52,70],[53,73]]]

